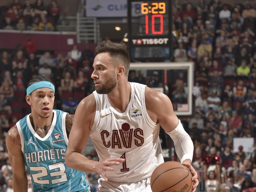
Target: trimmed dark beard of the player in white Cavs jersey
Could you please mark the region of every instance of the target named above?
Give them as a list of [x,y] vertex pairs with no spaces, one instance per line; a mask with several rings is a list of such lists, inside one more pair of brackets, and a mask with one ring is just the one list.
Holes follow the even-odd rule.
[[104,83],[100,83],[99,87],[95,87],[95,90],[99,94],[108,94],[116,87],[116,76],[115,71],[113,71],[112,76],[110,76]]

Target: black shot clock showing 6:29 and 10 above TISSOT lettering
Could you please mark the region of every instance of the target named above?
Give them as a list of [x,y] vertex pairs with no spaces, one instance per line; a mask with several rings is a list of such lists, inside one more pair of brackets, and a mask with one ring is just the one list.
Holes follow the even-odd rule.
[[164,61],[172,57],[170,0],[128,0],[131,60]]

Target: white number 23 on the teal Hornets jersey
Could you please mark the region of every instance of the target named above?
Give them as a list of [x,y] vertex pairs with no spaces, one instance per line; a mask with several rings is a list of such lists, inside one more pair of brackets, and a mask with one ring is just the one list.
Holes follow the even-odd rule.
[[[50,173],[50,177],[60,176],[60,178],[52,179],[51,180],[52,184],[61,183],[68,180],[67,174],[65,173],[66,167],[64,163],[62,162],[55,163],[55,164],[48,165],[48,167],[49,167],[49,170],[58,169],[58,168],[60,169],[60,171]],[[31,174],[34,180],[34,183],[50,184],[50,180],[42,180],[42,179],[38,180],[39,178],[48,176],[46,167],[41,166],[41,167],[29,167],[29,168],[30,168],[30,171],[39,171],[39,173]]]

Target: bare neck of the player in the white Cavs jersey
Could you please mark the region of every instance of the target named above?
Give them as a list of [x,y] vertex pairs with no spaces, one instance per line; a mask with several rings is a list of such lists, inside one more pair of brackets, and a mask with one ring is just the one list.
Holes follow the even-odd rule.
[[117,82],[113,91],[108,93],[108,100],[116,111],[123,113],[131,99],[131,85],[128,81]]

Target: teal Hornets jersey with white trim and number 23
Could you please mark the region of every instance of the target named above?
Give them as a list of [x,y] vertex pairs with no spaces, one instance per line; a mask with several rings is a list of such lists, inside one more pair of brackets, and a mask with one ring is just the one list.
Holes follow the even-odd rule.
[[41,138],[33,129],[29,115],[17,122],[21,150],[34,192],[90,192],[85,173],[65,164],[68,145],[67,113],[53,110],[49,132]]

